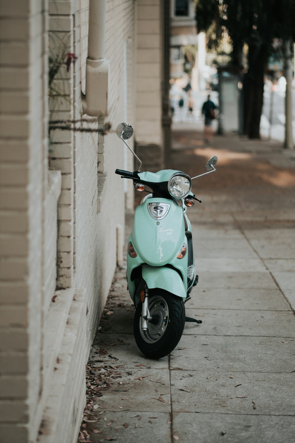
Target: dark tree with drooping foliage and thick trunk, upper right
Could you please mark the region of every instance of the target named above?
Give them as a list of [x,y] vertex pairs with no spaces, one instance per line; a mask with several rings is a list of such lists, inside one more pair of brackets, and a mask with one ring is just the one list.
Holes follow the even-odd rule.
[[[211,30],[216,47],[227,33],[232,65],[242,70],[242,50],[248,47],[244,76],[244,133],[259,138],[264,74],[268,57],[283,57],[283,41],[295,41],[295,0],[195,0],[198,32]],[[212,39],[213,35],[213,39]],[[276,44],[274,44],[274,39]],[[214,42],[213,42],[214,45]]]

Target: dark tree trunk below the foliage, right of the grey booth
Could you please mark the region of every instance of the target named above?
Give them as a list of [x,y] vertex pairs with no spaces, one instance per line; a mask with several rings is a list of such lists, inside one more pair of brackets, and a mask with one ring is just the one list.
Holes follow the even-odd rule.
[[244,78],[244,134],[260,138],[259,126],[263,105],[264,70],[267,51],[264,45],[249,46],[249,71]]

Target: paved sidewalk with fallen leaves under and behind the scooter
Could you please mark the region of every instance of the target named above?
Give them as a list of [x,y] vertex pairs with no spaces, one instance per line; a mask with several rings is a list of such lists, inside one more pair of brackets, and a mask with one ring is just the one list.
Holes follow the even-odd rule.
[[[87,367],[79,441],[290,443],[295,439],[295,152],[174,126],[171,167],[195,180],[188,209],[199,283],[169,357],[145,358],[118,269]],[[143,165],[144,166],[144,165]],[[132,214],[127,216],[130,232]]]

